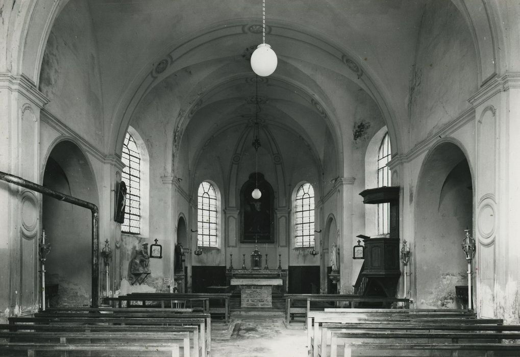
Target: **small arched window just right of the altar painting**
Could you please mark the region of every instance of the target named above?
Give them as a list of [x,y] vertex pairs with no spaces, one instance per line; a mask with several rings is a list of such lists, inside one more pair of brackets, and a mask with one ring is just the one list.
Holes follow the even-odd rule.
[[314,189],[304,183],[294,200],[295,247],[314,246]]

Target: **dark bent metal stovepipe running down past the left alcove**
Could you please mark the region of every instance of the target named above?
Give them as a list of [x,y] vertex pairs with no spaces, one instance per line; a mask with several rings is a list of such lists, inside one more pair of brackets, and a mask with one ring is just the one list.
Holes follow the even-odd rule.
[[33,190],[53,197],[54,199],[71,203],[76,206],[90,209],[92,212],[92,307],[99,306],[99,209],[90,202],[77,199],[76,197],[48,189],[37,183],[22,179],[21,177],[6,174],[0,171],[0,180],[16,184],[17,186]]

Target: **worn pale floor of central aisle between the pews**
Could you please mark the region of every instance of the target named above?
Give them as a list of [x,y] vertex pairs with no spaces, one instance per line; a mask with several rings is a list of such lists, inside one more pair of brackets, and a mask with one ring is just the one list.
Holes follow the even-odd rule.
[[[213,357],[305,357],[306,330],[286,329],[272,316],[236,319],[231,336],[214,334]],[[222,337],[223,335],[220,335]]]

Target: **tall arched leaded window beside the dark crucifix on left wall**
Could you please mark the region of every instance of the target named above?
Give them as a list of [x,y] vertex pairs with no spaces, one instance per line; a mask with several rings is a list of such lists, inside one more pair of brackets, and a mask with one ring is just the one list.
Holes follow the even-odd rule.
[[141,155],[130,133],[126,133],[121,160],[125,167],[121,179],[126,183],[124,233],[140,234],[141,228]]

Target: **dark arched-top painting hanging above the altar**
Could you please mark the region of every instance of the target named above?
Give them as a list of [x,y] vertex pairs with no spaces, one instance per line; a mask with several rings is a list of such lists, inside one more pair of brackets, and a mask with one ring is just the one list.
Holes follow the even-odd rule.
[[[254,199],[251,193],[262,193]],[[274,243],[274,191],[261,173],[252,173],[240,189],[240,243]]]

